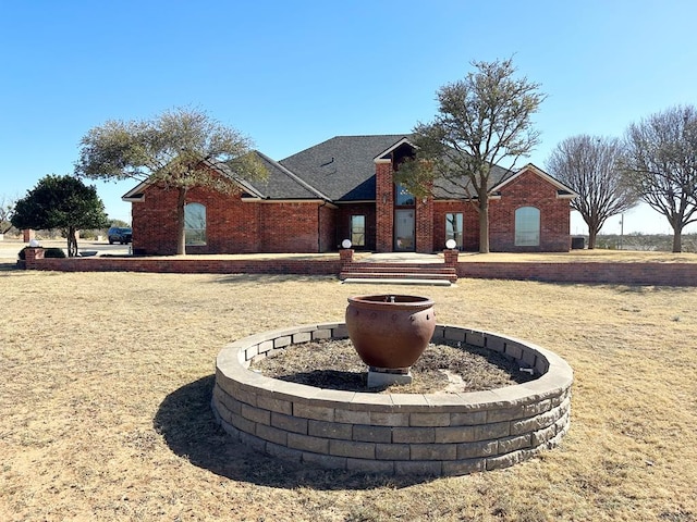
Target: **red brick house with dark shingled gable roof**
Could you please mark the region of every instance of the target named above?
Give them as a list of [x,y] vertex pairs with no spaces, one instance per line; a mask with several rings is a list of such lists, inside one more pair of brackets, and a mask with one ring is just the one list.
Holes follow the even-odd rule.
[[[185,207],[189,253],[327,252],[344,239],[379,252],[433,252],[454,239],[479,248],[479,219],[470,201],[437,190],[415,198],[394,183],[413,153],[405,135],[338,136],[281,161],[258,154],[264,181],[234,195],[192,188]],[[489,192],[491,251],[568,251],[570,202],[577,195],[533,164],[496,169]],[[176,252],[176,192],[147,181],[125,194],[132,202],[133,248]]]

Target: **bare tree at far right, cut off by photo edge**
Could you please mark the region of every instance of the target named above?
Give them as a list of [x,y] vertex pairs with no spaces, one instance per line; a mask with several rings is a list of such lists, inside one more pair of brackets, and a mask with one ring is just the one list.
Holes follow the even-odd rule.
[[697,222],[697,110],[676,105],[632,124],[624,170],[641,200],[673,228],[673,252],[683,228]]

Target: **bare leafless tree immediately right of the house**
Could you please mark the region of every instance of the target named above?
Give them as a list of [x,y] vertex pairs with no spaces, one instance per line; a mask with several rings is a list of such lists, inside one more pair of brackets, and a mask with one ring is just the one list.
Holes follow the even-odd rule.
[[578,194],[571,207],[588,225],[589,249],[596,248],[596,236],[608,217],[638,202],[638,195],[624,181],[621,158],[620,139],[584,134],[564,139],[547,161],[547,171]]

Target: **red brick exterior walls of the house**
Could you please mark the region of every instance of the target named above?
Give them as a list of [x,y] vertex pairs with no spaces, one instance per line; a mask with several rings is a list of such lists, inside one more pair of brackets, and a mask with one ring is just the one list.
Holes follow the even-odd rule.
[[[254,201],[195,187],[186,201],[206,207],[207,244],[188,253],[327,252],[350,236],[351,216],[366,216],[366,250],[394,249],[394,183],[391,163],[376,163],[376,201],[327,204],[321,201]],[[540,245],[515,246],[515,210],[540,210]],[[466,201],[418,198],[415,206],[415,250],[439,251],[445,243],[445,213],[463,213],[463,250],[479,247],[479,214]],[[176,253],[176,191],[149,186],[145,200],[132,203],[136,253]],[[534,172],[524,172],[489,206],[491,251],[568,251],[570,206],[557,187]]]

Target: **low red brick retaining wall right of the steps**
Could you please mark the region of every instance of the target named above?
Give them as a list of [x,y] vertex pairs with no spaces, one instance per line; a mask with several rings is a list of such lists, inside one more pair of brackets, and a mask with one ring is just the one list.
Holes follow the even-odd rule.
[[697,286],[697,263],[457,263],[458,277],[548,283]]

